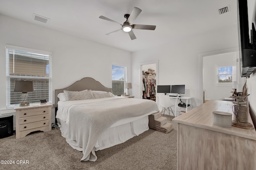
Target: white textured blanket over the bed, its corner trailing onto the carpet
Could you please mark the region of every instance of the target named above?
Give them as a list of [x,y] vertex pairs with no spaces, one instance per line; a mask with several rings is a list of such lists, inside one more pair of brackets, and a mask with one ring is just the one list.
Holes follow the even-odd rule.
[[58,106],[56,117],[69,123],[69,138],[82,148],[84,156],[81,160],[84,161],[97,159],[94,145],[100,134],[113,123],[159,111],[154,101],[120,97],[62,103],[65,104]]

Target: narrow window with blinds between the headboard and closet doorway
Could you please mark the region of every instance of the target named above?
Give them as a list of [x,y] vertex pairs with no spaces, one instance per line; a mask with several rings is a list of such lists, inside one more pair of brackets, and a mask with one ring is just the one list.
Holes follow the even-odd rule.
[[112,93],[124,94],[124,84],[127,82],[127,67],[112,65]]

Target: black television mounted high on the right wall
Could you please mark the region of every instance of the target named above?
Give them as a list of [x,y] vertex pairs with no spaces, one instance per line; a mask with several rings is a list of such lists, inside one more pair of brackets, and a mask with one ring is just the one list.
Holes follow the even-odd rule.
[[[253,1],[248,1],[253,2]],[[256,70],[256,7],[247,0],[237,0],[238,39],[241,77],[247,77]],[[250,14],[248,6],[252,7]]]

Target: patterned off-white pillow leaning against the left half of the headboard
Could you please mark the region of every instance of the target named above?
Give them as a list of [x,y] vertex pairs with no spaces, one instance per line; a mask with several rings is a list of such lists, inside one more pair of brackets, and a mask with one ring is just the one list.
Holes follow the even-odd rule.
[[73,92],[64,90],[64,94],[66,96],[66,100],[84,100],[84,99],[95,99],[92,91],[80,91],[80,92]]

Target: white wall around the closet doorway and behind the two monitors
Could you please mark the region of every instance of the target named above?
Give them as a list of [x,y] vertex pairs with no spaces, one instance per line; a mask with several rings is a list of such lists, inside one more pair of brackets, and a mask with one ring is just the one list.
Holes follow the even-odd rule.
[[192,105],[198,106],[202,104],[202,61],[198,61],[198,55],[238,47],[237,25],[170,41],[160,47],[132,53],[133,95],[136,98],[140,95],[139,63],[158,60],[157,84],[185,84],[184,96],[193,97]]

